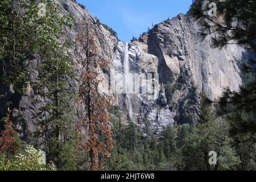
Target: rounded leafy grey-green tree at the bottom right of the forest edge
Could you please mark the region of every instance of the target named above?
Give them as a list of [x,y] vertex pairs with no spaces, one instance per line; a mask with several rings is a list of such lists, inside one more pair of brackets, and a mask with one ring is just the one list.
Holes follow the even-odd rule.
[[[240,158],[227,135],[228,123],[210,121],[197,125],[185,139],[181,154],[184,169],[190,170],[233,170],[240,164]],[[217,153],[217,164],[210,165],[210,151]]]

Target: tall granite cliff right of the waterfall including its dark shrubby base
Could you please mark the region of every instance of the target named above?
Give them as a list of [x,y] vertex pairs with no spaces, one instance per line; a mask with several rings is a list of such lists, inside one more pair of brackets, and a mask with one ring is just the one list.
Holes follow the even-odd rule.
[[147,45],[147,54],[157,57],[160,84],[173,85],[168,105],[179,123],[196,121],[201,90],[217,100],[225,88],[238,90],[242,82],[243,49],[236,45],[211,48],[210,36],[202,40],[198,32],[197,22],[180,14],[156,24],[139,39],[140,45]]

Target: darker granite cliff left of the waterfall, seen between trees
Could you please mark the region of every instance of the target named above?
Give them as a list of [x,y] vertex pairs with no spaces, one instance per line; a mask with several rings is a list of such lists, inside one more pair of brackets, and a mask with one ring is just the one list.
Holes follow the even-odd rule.
[[[72,30],[67,29],[67,34],[63,39],[68,40],[71,43],[69,52],[72,56],[73,65],[76,71],[76,77],[72,80],[68,78],[69,88],[77,90],[79,86],[79,73],[81,64],[78,61],[78,56],[75,47],[75,36],[77,34],[77,22],[83,16],[93,23],[94,30],[97,34],[96,42],[100,45],[99,52],[101,56],[106,60],[112,60],[114,57],[114,46],[117,44],[117,38],[102,24],[97,23],[97,19],[94,18],[84,7],[78,5],[72,0],[55,0],[55,3],[59,5],[61,12],[68,11],[68,13],[75,19],[75,24]],[[40,107],[47,104],[47,98],[37,96],[34,92],[34,85],[38,78],[38,66],[41,60],[30,60],[28,66],[30,67],[30,85],[27,88],[26,93],[19,95],[13,93],[11,87],[0,86],[0,118],[6,115],[6,102],[12,102],[12,121],[18,130],[22,139],[27,139],[27,142],[31,142],[31,135],[38,129],[38,122],[42,119],[42,115],[39,114]],[[79,117],[79,116],[78,116]]]

